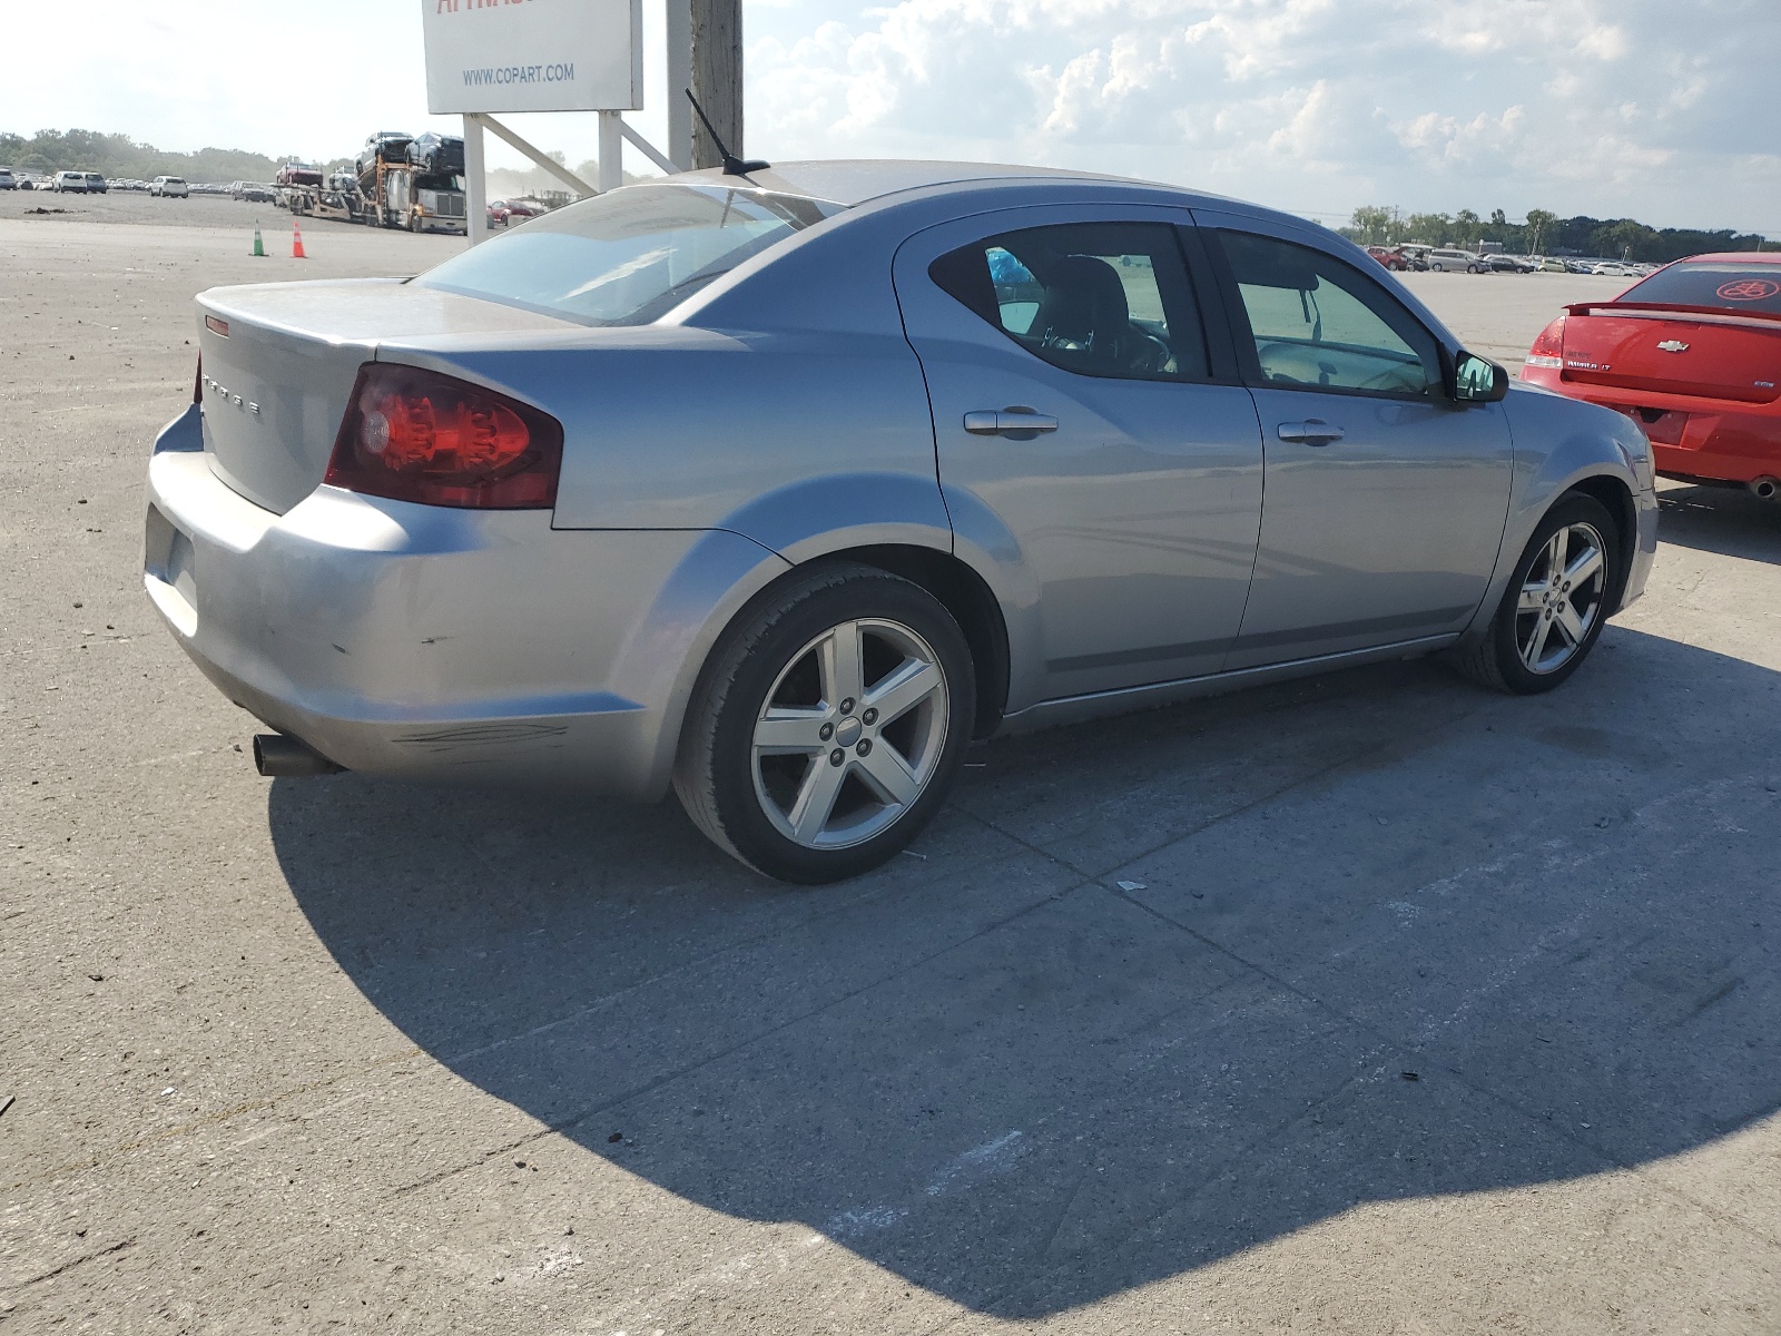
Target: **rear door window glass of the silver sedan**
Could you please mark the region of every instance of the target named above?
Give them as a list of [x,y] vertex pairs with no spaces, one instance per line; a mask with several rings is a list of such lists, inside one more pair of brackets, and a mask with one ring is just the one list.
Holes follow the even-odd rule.
[[1208,379],[1206,333],[1165,223],[1063,223],[962,246],[928,276],[1033,356],[1081,376]]

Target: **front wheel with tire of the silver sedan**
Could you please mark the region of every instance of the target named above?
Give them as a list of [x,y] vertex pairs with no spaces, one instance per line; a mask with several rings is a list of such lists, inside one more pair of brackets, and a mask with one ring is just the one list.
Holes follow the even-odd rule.
[[1624,584],[1614,517],[1594,497],[1567,492],[1528,540],[1489,631],[1455,650],[1453,664],[1494,691],[1551,691],[1589,657]]

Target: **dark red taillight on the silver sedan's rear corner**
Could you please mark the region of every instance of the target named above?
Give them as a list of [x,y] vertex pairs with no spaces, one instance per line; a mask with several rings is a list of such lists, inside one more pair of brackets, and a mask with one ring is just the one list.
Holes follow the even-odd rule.
[[369,362],[322,481],[424,506],[550,509],[561,467],[554,417],[452,376]]

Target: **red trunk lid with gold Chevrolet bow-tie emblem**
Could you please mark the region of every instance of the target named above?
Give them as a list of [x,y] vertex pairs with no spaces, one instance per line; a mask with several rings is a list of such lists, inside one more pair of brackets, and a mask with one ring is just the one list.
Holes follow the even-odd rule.
[[1777,395],[1781,315],[1626,303],[1567,312],[1567,381],[1747,404]]

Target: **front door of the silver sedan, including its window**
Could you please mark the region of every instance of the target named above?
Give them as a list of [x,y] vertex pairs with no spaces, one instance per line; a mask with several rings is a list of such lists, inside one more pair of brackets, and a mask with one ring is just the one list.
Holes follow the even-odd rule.
[[1509,511],[1500,403],[1444,394],[1435,335],[1311,233],[1195,210],[1261,419],[1248,668],[1464,629]]

